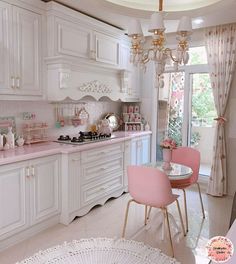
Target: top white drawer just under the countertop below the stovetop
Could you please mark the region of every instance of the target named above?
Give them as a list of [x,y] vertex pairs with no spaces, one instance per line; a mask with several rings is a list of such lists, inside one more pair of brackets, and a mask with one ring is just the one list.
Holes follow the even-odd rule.
[[124,144],[112,144],[106,147],[85,150],[81,153],[82,163],[105,159],[124,152]]

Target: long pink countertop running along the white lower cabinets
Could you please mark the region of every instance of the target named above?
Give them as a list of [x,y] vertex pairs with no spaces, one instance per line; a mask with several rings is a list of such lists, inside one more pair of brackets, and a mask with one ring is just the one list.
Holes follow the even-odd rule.
[[114,138],[100,141],[96,143],[88,143],[82,145],[69,145],[56,142],[45,142],[37,143],[32,145],[24,145],[22,147],[16,147],[10,150],[0,151],[0,165],[9,164],[18,161],[24,161],[28,159],[40,158],[44,156],[54,155],[54,154],[69,154],[73,152],[78,152],[82,150],[87,150],[96,147],[107,146],[108,144],[114,144],[118,142],[123,142],[134,137],[144,136],[151,134],[151,131],[141,131],[141,132],[114,132]]

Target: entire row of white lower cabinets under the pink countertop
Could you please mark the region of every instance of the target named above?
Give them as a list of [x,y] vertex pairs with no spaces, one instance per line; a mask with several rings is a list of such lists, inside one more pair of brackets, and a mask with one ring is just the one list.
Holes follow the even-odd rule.
[[127,166],[148,162],[150,135],[0,166],[0,251],[120,196]]

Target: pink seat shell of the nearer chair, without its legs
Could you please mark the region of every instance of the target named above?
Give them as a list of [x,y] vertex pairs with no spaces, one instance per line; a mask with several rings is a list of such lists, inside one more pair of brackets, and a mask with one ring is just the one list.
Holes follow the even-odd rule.
[[173,202],[168,176],[157,168],[128,166],[130,195],[139,203],[164,207]]

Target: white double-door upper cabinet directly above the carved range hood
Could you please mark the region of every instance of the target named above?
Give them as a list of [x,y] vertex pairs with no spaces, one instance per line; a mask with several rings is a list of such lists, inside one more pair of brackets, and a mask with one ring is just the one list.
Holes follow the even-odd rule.
[[82,58],[118,67],[119,38],[94,30],[96,26],[87,24],[78,13],[77,16],[77,20],[48,16],[48,56],[71,56],[73,61]]

